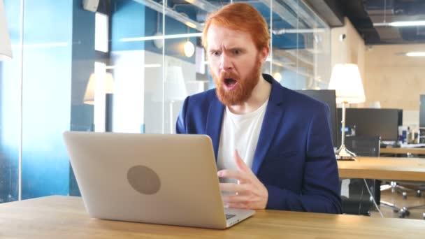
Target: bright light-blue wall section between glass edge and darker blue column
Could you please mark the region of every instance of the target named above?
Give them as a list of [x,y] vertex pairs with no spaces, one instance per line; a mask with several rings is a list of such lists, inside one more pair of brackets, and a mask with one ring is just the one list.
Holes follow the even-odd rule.
[[73,1],[27,0],[24,9],[22,198],[67,195]]

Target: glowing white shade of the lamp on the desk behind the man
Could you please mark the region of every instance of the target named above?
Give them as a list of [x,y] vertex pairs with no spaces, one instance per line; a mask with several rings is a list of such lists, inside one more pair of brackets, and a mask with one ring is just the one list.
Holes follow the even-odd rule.
[[359,67],[356,64],[333,66],[329,89],[336,91],[336,103],[362,103],[366,101]]

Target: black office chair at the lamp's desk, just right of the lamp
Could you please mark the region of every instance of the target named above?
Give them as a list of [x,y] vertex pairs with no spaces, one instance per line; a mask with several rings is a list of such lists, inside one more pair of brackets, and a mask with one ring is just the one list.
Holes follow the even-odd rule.
[[[357,156],[378,157],[380,155],[380,136],[346,136],[345,147]],[[380,180],[366,180],[373,198],[380,203]],[[349,197],[342,197],[343,212],[354,215],[370,215],[373,201],[363,179],[350,179]]]

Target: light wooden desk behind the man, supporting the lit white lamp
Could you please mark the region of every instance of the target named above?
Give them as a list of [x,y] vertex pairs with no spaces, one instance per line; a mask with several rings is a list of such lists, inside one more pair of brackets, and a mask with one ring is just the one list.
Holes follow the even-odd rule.
[[340,178],[370,178],[425,182],[425,159],[394,157],[356,157],[338,161]]

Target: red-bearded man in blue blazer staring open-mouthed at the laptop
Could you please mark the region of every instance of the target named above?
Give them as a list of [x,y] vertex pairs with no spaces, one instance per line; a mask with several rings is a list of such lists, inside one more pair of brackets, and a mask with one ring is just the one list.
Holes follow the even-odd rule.
[[340,213],[329,108],[261,75],[264,18],[232,3],[208,17],[202,39],[216,89],[185,99],[177,132],[212,139],[224,205]]

